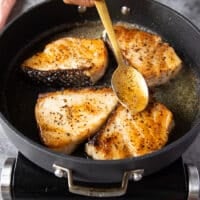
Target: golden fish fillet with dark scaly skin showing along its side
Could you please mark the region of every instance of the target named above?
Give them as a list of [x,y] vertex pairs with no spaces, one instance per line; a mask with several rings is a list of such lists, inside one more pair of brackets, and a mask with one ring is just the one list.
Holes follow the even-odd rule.
[[86,86],[104,75],[107,64],[107,49],[101,39],[65,37],[46,45],[21,67],[37,82]]

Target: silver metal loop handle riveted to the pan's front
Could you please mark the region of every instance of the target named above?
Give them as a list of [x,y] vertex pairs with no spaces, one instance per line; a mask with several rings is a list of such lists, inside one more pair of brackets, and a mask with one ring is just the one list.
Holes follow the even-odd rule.
[[68,188],[71,193],[89,196],[89,197],[118,197],[126,194],[128,181],[132,179],[134,181],[139,181],[142,179],[144,170],[137,169],[131,170],[124,173],[121,187],[118,188],[94,188],[94,187],[85,187],[85,186],[78,186],[73,183],[72,171],[53,164],[54,174],[59,177],[67,177],[68,179]]

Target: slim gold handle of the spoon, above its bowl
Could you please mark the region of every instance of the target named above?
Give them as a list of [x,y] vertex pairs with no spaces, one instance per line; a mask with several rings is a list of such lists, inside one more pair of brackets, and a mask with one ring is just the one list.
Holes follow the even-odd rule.
[[122,57],[121,51],[119,49],[119,45],[116,40],[115,32],[113,29],[113,25],[111,22],[111,18],[110,18],[109,12],[108,12],[106,2],[105,2],[105,0],[95,0],[94,2],[95,2],[95,6],[97,8],[97,11],[99,13],[99,16],[101,18],[101,21],[104,25],[104,28],[108,34],[108,38],[113,47],[113,51],[114,51],[115,57],[117,59],[118,65],[123,66],[124,65],[123,57]]

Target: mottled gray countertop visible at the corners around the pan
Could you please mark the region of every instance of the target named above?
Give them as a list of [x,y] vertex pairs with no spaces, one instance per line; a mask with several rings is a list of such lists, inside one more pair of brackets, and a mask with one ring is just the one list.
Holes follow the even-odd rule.
[[[40,3],[44,0],[18,0],[17,4],[10,16],[10,20],[20,13],[24,12],[31,6]],[[114,0],[113,0],[114,1]],[[200,28],[200,0],[162,0],[161,3],[164,3],[178,12],[182,13],[188,17],[196,26]],[[200,44],[199,44],[200,45]],[[189,149],[184,153],[185,162],[190,162],[198,166],[200,171],[200,135],[190,146]],[[17,150],[15,147],[8,141],[0,128],[0,171],[3,165],[4,160],[8,156],[15,156]]]

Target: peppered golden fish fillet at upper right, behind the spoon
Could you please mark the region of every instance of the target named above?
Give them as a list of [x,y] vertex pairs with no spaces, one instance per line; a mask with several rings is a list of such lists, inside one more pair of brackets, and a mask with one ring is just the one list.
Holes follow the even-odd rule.
[[124,58],[143,74],[148,86],[166,83],[180,71],[181,59],[158,35],[124,26],[114,29]]

